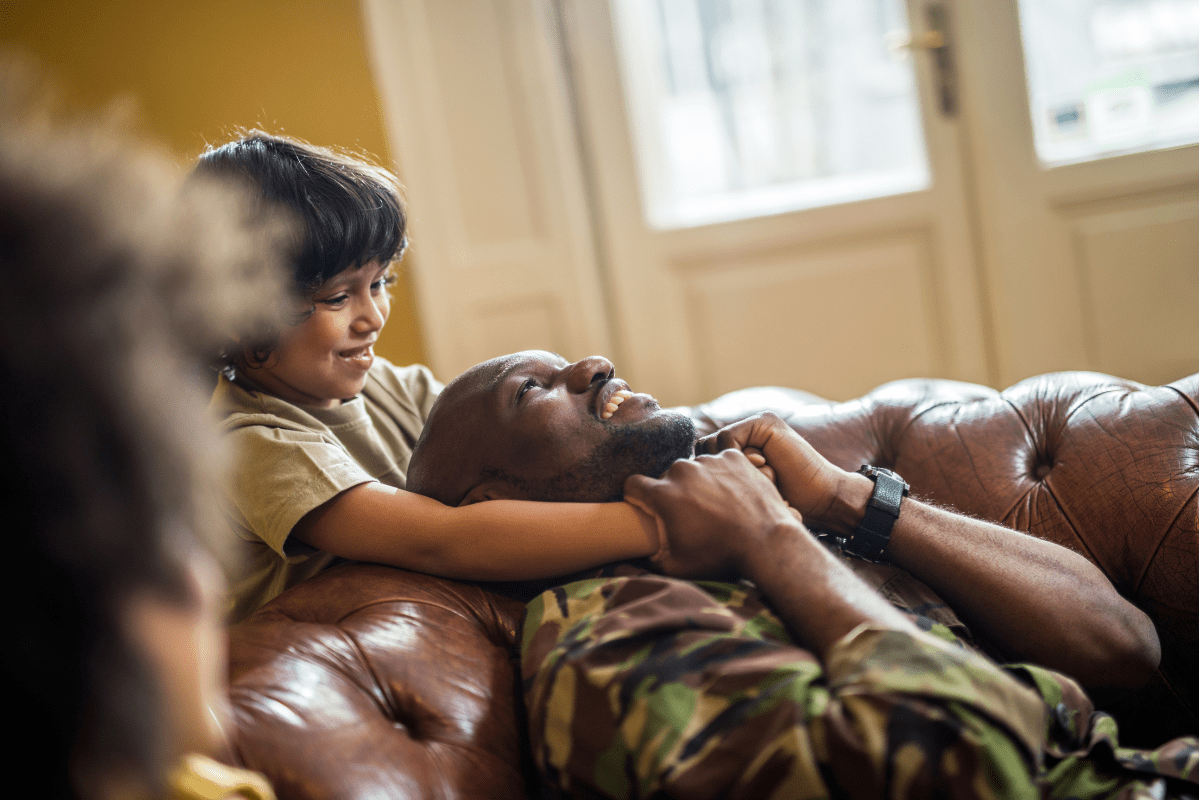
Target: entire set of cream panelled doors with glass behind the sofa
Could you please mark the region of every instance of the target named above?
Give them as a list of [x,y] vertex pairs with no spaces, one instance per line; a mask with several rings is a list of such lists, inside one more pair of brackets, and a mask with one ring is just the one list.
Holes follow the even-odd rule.
[[[1157,22],[1121,16],[1139,6]],[[1164,48],[1193,66],[1078,97],[1034,80],[1031,116],[1021,23],[1031,54],[1068,29],[1016,0],[366,0],[431,366],[607,353],[670,403],[1193,372],[1196,149],[1117,134],[1147,108],[1195,114],[1195,6],[1032,1],[1118,67]],[[667,17],[683,28],[637,55]],[[1072,61],[1049,52],[1031,78]],[[703,70],[720,91],[694,91]],[[638,118],[655,94],[668,108]],[[1048,119],[1058,150],[1039,156]]]

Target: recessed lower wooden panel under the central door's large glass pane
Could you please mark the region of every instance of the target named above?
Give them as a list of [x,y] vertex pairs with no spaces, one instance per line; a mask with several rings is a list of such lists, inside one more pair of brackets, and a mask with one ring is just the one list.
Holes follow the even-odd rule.
[[[673,265],[701,393],[809,386],[822,375],[824,395],[857,397],[874,389],[876,374],[944,374],[930,251],[928,231],[917,230]],[[864,308],[898,313],[881,331],[856,321]]]

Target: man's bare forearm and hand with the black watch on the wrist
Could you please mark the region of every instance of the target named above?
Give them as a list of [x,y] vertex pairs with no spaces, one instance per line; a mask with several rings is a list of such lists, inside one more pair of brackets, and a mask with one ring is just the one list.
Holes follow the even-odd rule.
[[[830,464],[774,414],[697,444],[703,452],[746,447],[762,452],[782,497],[814,528],[847,535],[863,518],[870,479]],[[1150,619],[1063,547],[907,498],[886,555],[1014,660],[1118,692],[1141,686],[1158,666]]]

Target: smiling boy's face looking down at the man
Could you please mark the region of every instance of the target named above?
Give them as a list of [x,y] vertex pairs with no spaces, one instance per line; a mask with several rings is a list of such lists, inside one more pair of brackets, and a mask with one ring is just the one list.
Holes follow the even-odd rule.
[[326,281],[312,297],[312,315],[286,327],[266,363],[247,377],[298,405],[334,408],[358,395],[388,321],[388,267],[371,261]]

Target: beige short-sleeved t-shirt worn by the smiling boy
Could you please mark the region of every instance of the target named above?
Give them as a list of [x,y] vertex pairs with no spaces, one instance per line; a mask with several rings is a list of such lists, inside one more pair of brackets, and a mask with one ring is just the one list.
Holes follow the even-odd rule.
[[229,621],[336,560],[288,539],[301,517],[360,483],[404,488],[413,446],[440,391],[426,367],[379,357],[362,392],[332,409],[294,405],[222,375],[209,410],[233,450],[223,511],[244,565],[229,576]]

